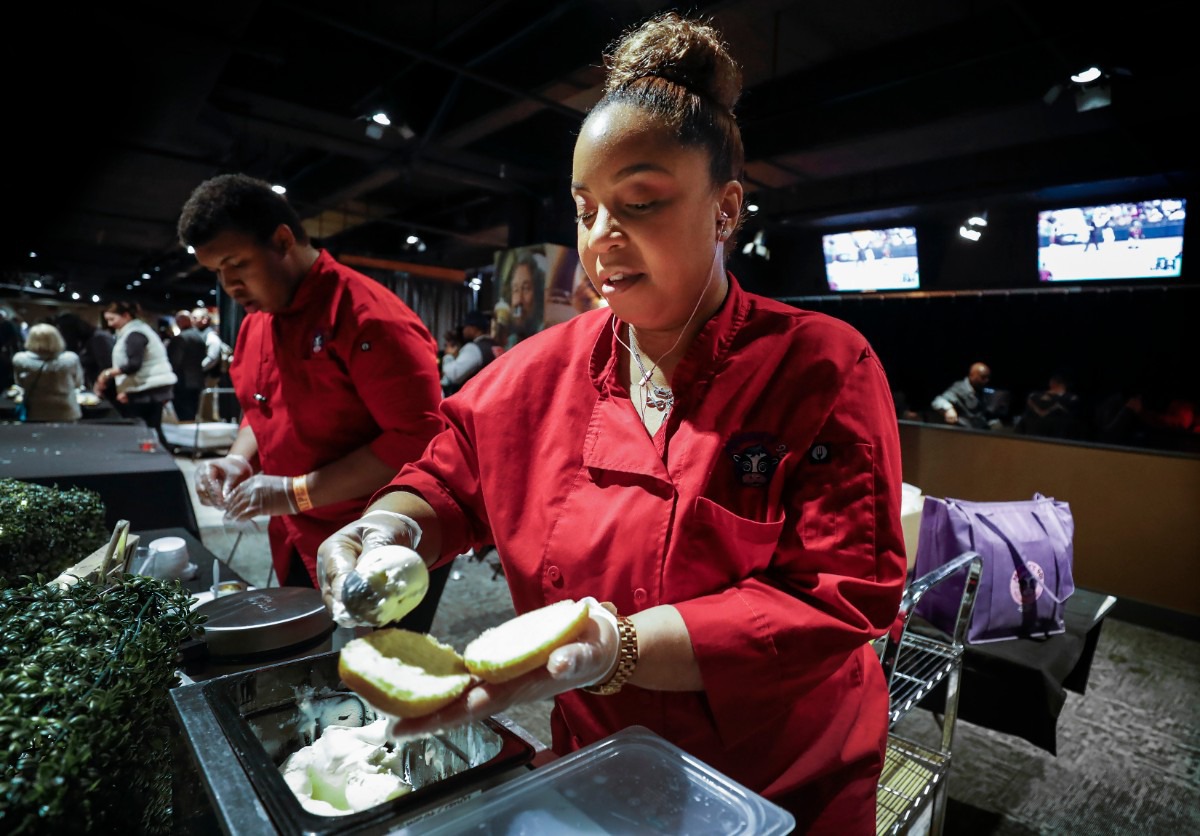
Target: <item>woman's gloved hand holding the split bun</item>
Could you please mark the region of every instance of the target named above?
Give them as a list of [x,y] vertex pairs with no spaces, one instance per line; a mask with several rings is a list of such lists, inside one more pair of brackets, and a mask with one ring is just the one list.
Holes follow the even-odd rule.
[[440,711],[397,720],[391,735],[397,739],[420,738],[455,726],[463,726],[499,714],[521,703],[565,693],[602,682],[617,669],[620,632],[612,605],[595,599],[588,602],[589,624],[580,637],[550,654],[546,667],[530,670],[506,682],[474,682],[467,692]]

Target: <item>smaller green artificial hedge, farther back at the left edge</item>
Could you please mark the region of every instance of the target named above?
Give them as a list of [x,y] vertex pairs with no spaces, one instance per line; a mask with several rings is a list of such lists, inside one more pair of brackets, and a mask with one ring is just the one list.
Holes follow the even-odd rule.
[[0,479],[0,578],[58,577],[108,542],[104,512],[95,491]]

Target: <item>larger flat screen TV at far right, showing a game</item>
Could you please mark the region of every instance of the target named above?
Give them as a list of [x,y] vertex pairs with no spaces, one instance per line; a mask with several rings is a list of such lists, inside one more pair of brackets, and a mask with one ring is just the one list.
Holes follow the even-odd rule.
[[1068,206],[1038,212],[1042,282],[1178,278],[1187,200]]

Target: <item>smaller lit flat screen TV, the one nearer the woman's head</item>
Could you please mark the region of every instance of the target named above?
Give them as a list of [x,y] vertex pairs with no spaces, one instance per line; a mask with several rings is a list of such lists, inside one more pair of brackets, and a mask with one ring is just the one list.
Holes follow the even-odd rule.
[[826,283],[836,293],[917,290],[917,230],[913,227],[856,229],[822,235]]

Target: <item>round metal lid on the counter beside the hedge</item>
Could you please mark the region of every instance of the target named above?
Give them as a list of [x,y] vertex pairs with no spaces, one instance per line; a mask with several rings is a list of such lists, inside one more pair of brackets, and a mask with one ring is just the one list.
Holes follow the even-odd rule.
[[320,593],[304,587],[250,589],[205,601],[204,643],[214,656],[280,650],[330,632],[334,619]]

